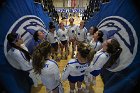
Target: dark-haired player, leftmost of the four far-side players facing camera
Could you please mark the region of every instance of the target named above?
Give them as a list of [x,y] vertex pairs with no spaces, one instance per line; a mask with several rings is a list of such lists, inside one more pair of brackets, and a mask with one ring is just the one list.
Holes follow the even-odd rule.
[[49,32],[46,35],[47,41],[51,43],[51,49],[52,49],[52,59],[56,60],[57,59],[57,54],[58,54],[58,36],[56,34],[55,26],[53,23],[50,22],[49,24]]

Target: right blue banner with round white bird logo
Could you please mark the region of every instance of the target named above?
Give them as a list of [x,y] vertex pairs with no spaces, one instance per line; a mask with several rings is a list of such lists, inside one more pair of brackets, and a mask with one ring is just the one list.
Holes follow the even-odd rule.
[[115,37],[123,49],[117,64],[102,70],[104,93],[140,93],[139,20],[134,0],[110,0],[86,23],[98,26],[105,39]]

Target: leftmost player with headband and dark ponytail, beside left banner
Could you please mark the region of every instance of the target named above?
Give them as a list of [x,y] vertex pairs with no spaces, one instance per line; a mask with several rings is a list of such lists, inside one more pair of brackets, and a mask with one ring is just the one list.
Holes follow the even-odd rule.
[[14,68],[29,72],[29,76],[34,82],[34,86],[37,87],[40,77],[34,74],[34,71],[32,70],[31,55],[24,45],[22,38],[17,33],[10,33],[7,35],[7,40],[12,47],[6,55],[8,61]]

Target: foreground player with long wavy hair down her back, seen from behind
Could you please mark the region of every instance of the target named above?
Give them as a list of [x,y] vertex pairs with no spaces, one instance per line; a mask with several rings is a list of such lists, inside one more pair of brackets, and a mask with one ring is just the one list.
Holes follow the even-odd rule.
[[50,60],[51,44],[47,41],[40,43],[33,53],[33,68],[40,74],[41,80],[50,93],[63,93],[60,88],[60,72],[56,61]]

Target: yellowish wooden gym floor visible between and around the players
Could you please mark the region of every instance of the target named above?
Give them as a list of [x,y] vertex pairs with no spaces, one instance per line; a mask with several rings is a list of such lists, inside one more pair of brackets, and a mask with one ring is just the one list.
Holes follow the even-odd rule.
[[[74,19],[75,19],[75,24],[80,23],[81,19],[79,17],[74,17]],[[65,22],[65,24],[66,24],[66,20],[63,20],[63,22]],[[69,23],[67,22],[67,24],[69,24]],[[68,56],[67,60],[61,60],[60,62],[58,62],[58,65],[59,65],[61,73],[62,73],[64,67],[66,66],[67,62],[70,59],[71,59],[71,51],[70,51],[70,55]],[[63,82],[63,87],[64,87],[64,93],[69,93],[69,83],[68,83],[68,81]],[[103,87],[104,87],[104,84],[102,82],[102,79],[100,78],[100,76],[97,76],[97,78],[96,78],[96,86],[93,86],[93,89],[94,89],[95,93],[103,93]],[[32,87],[31,93],[47,93],[47,91],[46,91],[45,86],[40,84],[36,88]]]

